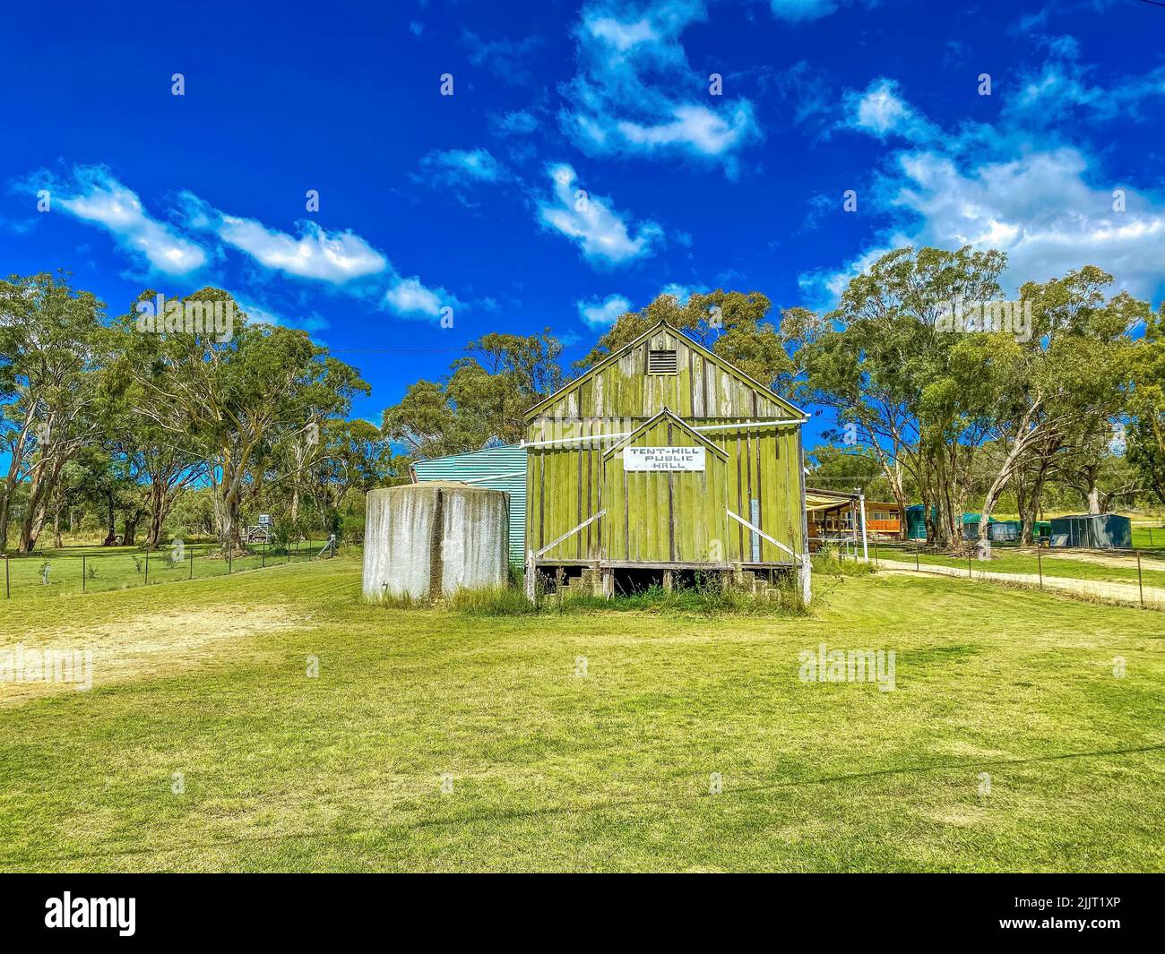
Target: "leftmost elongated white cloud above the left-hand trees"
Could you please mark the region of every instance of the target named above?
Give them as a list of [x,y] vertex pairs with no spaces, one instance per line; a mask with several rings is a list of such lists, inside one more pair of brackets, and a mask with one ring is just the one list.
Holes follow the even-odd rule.
[[[34,179],[28,181],[34,184]],[[47,181],[52,207],[106,229],[126,252],[142,259],[153,271],[177,276],[207,262],[206,252],[183,238],[171,225],[153,218],[137,195],[104,167],[78,165],[71,181]]]

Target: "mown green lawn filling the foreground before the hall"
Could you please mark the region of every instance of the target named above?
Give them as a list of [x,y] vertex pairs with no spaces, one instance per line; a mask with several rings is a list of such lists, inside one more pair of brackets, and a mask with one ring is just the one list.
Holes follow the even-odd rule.
[[[98,655],[0,684],[0,869],[1165,870],[1158,614],[817,584],[807,619],[467,619],[338,558],[12,601],[0,648]],[[821,642],[896,688],[800,681]]]

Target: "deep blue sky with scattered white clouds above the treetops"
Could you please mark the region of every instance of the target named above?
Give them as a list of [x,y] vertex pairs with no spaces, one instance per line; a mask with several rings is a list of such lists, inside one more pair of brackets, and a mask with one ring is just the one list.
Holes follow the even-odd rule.
[[3,271],[68,268],[111,313],[227,288],[358,366],[377,423],[485,332],[549,325],[574,360],[669,288],[827,308],[902,242],[1001,248],[1011,287],[1095,263],[1165,294],[1165,7],[1144,0],[2,16]]

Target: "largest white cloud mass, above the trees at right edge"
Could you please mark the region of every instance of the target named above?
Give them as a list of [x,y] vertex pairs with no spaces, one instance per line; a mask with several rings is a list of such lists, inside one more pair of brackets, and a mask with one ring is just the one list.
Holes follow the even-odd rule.
[[[1075,56],[1072,43],[1053,37],[1045,45]],[[1165,92],[1165,68],[1117,78],[1104,91],[1088,86],[1086,72],[1046,62],[1003,103],[998,125],[963,122],[949,132],[919,114],[892,80],[847,96],[847,127],[880,139],[901,134],[915,148],[891,151],[866,190],[874,207],[888,210],[874,241],[841,269],[800,277],[814,304],[827,306],[850,277],[905,245],[1004,252],[1011,291],[1095,264],[1121,288],[1153,297],[1165,287],[1165,197],[1106,172],[1103,154],[1086,143],[1088,123],[1113,119],[1114,103],[1136,121],[1135,107]],[[1080,120],[1067,127],[1072,144],[1044,128],[1046,115],[1060,109]],[[1114,209],[1117,189],[1124,211]]]

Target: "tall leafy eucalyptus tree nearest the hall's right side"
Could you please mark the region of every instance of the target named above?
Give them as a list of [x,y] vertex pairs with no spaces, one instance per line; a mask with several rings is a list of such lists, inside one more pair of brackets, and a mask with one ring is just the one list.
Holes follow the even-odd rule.
[[[948,544],[987,439],[991,394],[976,356],[944,318],[1001,297],[1007,259],[969,247],[899,248],[854,276],[806,345],[806,391],[878,461],[895,501],[913,483],[929,536]],[[932,508],[938,520],[931,520]]]

